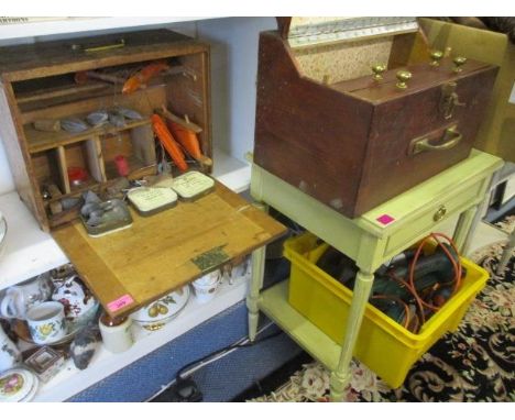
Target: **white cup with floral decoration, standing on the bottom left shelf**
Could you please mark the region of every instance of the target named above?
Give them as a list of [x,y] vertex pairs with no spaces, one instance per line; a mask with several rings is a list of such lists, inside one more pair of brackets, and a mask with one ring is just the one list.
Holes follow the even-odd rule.
[[33,306],[26,312],[26,323],[36,344],[51,344],[66,335],[64,307],[48,301]]

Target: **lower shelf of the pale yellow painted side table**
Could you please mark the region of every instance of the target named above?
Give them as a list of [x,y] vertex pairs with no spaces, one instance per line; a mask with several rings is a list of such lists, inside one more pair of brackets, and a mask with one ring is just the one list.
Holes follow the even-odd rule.
[[260,310],[313,357],[335,371],[341,346],[289,306],[288,286],[286,280],[262,291],[258,303]]

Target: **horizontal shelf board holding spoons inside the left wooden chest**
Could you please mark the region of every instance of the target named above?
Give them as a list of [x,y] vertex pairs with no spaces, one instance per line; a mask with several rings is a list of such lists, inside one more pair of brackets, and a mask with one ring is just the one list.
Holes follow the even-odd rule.
[[43,152],[56,146],[83,142],[98,135],[117,134],[121,131],[131,130],[136,126],[150,124],[150,119],[129,121],[122,128],[116,128],[111,124],[103,125],[99,129],[86,130],[80,133],[68,133],[64,130],[56,133],[47,133],[37,131],[32,124],[24,125],[24,132],[30,153]]

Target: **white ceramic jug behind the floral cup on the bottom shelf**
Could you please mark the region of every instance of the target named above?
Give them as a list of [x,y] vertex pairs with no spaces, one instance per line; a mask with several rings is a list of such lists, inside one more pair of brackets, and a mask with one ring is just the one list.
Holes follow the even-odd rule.
[[52,283],[47,274],[9,287],[0,299],[0,317],[24,320],[26,311],[34,305],[48,300],[51,292]]

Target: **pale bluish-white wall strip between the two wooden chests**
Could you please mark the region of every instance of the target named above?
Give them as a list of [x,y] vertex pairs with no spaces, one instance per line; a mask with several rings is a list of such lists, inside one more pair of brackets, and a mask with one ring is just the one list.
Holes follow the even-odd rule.
[[259,33],[276,27],[274,18],[197,23],[198,37],[211,44],[213,144],[240,161],[254,148]]

